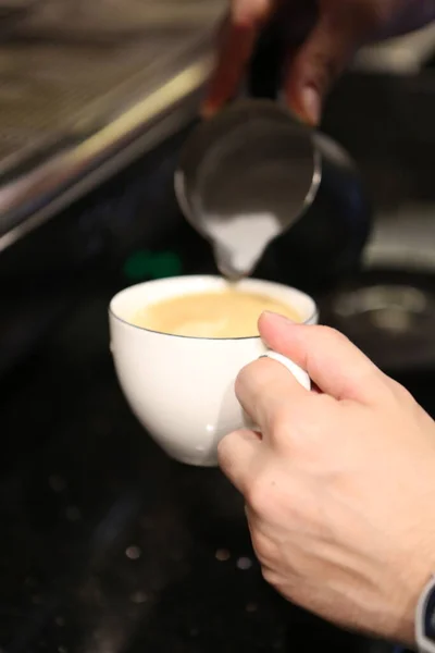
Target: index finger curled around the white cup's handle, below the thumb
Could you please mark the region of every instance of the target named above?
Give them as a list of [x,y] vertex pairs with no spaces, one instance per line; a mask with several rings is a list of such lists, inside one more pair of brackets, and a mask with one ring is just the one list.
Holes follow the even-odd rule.
[[236,379],[236,395],[244,410],[268,436],[274,421],[291,405],[302,405],[311,397],[281,362],[260,358],[246,366]]

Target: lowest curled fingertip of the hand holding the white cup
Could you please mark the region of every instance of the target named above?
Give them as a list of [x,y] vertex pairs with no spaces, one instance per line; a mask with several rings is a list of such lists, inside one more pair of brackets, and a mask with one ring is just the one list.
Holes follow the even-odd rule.
[[249,429],[233,431],[219,443],[219,465],[229,481],[245,494],[253,478],[261,439]]

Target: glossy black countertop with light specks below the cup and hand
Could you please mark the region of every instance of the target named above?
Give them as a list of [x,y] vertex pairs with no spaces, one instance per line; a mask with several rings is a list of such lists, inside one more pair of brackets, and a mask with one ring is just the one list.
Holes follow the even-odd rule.
[[112,370],[112,292],[84,297],[1,386],[1,650],[385,650],[278,597],[220,471],[142,431]]

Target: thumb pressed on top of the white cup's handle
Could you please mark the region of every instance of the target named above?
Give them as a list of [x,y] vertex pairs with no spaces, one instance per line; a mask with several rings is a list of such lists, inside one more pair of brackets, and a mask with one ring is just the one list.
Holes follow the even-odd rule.
[[346,336],[327,326],[295,324],[263,313],[259,330],[264,343],[304,369],[323,393],[336,399],[372,403],[384,386],[384,374]]

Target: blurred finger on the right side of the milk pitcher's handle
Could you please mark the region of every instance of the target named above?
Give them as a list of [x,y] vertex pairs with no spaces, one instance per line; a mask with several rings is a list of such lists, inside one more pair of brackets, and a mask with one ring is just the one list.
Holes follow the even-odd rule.
[[[351,5],[353,3],[350,3]],[[285,83],[291,109],[304,122],[315,126],[321,120],[324,98],[333,82],[357,49],[364,22],[333,9],[319,14],[318,23],[293,60]]]

